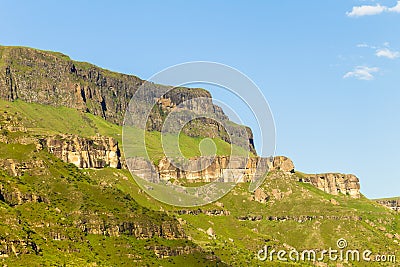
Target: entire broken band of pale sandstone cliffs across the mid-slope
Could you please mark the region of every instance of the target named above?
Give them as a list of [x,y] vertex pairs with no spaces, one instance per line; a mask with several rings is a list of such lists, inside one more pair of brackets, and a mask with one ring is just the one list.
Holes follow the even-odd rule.
[[[118,142],[109,137],[96,136],[92,138],[83,138],[74,135],[54,136],[41,140],[43,147],[56,157],[67,163],[73,163],[79,168],[112,168],[129,167],[134,170],[136,175],[147,179],[148,181],[169,181],[180,180],[189,183],[193,182],[213,182],[225,181],[232,182],[250,182],[255,179],[257,168],[264,165],[270,172],[283,171],[294,173],[295,166],[291,159],[284,156],[274,158],[260,157],[230,157],[216,156],[195,157],[189,160],[186,168],[177,166],[170,159],[164,157],[155,166],[154,171],[152,163],[140,157],[128,158],[121,161],[121,153]],[[40,163],[40,162],[39,162]],[[36,170],[43,169],[39,163]],[[16,164],[14,161],[0,162],[3,166],[9,166],[11,175],[21,174],[26,163]],[[25,164],[25,165],[24,165]],[[316,188],[332,194],[349,195],[352,198],[360,197],[359,179],[352,174],[324,173],[301,175],[299,182],[309,183]],[[259,192],[256,192],[259,194]],[[263,197],[260,197],[263,199]],[[262,200],[260,201],[262,202]]]

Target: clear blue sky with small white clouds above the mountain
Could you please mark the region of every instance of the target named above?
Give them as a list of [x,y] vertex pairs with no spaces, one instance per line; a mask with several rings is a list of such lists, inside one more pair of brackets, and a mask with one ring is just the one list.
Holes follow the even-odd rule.
[[0,0],[0,7],[2,45],[61,51],[141,78],[187,61],[237,68],[271,106],[277,154],[304,172],[354,173],[368,197],[400,195],[396,0]]

